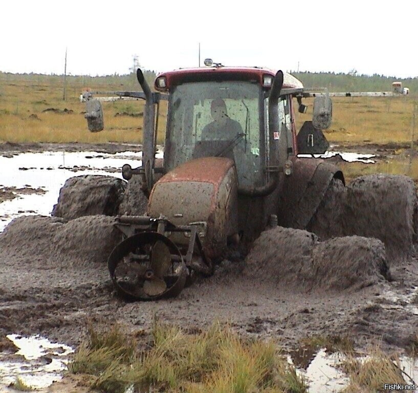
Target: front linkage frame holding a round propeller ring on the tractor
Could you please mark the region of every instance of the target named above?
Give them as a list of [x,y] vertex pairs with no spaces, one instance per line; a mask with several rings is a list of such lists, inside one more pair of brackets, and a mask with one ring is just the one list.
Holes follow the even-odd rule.
[[[199,238],[201,223],[175,226],[166,217],[122,215],[115,227],[126,238],[109,255],[107,267],[119,294],[130,300],[177,296],[197,273],[213,274]],[[189,238],[187,246],[170,237]]]

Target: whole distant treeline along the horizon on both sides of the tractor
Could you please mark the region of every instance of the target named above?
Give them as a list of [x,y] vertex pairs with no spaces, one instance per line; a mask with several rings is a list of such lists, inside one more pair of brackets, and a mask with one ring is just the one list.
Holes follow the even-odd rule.
[[[418,94],[418,77],[399,79],[384,75],[358,75],[335,74],[332,72],[311,73],[311,72],[291,72],[292,75],[300,79],[305,88],[328,88],[330,92],[373,92],[390,91],[392,82],[400,81],[404,88],[409,88],[413,95]],[[156,73],[153,71],[144,71],[145,79],[149,85],[153,86]],[[11,74],[0,72],[0,81],[11,82],[13,80],[23,80],[39,84],[59,85],[62,83],[63,75],[43,75],[43,74]],[[121,89],[138,90],[139,84],[135,74],[126,75],[106,75],[106,76],[87,76],[87,75],[67,75],[68,86],[120,86]]]

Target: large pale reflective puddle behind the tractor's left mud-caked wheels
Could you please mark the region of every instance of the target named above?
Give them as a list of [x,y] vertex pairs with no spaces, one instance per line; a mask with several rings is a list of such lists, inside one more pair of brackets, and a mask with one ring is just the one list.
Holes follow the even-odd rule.
[[[123,164],[141,165],[142,152],[125,151],[117,155],[95,151],[30,152],[11,158],[0,156],[0,167],[7,168],[0,178],[0,188],[15,187],[18,197],[0,203],[0,231],[19,215],[50,215],[65,180],[84,174],[103,174],[122,179]],[[157,158],[162,158],[159,151]],[[19,188],[41,188],[44,194],[19,193]]]

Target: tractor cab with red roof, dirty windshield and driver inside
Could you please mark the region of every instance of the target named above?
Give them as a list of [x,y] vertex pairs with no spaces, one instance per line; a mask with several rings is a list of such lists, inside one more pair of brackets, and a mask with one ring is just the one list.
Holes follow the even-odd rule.
[[[192,159],[226,157],[234,161],[241,189],[269,182],[269,91],[275,73],[260,68],[222,66],[184,69],[160,74],[155,88],[168,92],[164,172]],[[302,89],[290,74],[283,88]],[[278,101],[283,163],[296,154],[292,102]],[[282,140],[282,141],[281,141]]]

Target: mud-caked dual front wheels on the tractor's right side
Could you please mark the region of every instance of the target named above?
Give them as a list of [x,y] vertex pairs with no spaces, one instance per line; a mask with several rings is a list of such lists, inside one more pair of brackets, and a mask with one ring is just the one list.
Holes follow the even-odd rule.
[[261,233],[246,273],[292,291],[359,290],[390,278],[381,241],[346,236],[319,242],[314,233],[277,227]]

